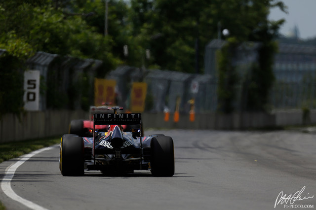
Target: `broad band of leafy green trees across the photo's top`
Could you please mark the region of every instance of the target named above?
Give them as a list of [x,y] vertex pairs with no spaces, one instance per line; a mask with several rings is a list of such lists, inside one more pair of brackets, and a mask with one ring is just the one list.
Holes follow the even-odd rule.
[[[199,49],[217,37],[218,29],[228,29],[239,41],[260,41],[265,38],[262,32],[275,33],[284,21],[269,22],[269,9],[286,9],[276,0],[131,0],[130,6],[123,0],[109,0],[109,35],[105,37],[105,0],[1,4],[2,33],[26,40],[32,52],[100,59],[109,69],[125,62],[184,72],[195,72],[196,54],[202,67],[203,50]],[[123,55],[124,45],[128,57]],[[149,60],[146,49],[151,51]]]

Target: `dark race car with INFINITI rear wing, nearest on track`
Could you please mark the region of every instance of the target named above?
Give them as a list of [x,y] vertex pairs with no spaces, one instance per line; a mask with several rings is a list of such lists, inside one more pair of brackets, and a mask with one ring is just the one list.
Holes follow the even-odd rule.
[[[109,107],[113,113],[93,115],[93,137],[63,135],[60,143],[59,169],[64,176],[84,175],[84,170],[99,170],[105,175],[150,170],[154,176],[174,175],[174,146],[163,134],[143,137],[140,113],[122,113],[123,108]],[[108,131],[96,126],[108,125]],[[122,125],[139,129],[123,132]]]

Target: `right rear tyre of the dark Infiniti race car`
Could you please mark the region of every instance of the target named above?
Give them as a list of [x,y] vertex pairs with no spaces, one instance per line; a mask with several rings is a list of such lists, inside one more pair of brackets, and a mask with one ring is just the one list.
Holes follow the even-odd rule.
[[151,172],[153,176],[174,175],[174,148],[171,137],[157,136],[151,140]]

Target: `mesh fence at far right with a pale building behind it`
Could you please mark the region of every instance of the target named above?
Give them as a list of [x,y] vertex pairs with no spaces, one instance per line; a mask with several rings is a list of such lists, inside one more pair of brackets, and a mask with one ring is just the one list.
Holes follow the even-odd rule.
[[279,44],[271,103],[276,109],[316,107],[316,47]]

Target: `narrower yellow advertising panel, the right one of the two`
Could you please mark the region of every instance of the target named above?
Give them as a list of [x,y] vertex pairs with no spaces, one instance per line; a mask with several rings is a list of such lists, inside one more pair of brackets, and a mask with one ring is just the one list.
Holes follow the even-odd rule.
[[145,99],[147,84],[145,82],[134,82],[131,92],[130,109],[132,112],[143,112],[145,110]]

